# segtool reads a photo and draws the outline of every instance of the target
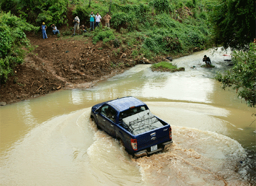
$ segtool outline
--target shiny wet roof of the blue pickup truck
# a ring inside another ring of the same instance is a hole
[[[108,102],[114,108],[116,108],[119,112],[125,111],[131,107],[138,107],[139,105],[145,105],[144,102],[137,99],[136,97],[122,97],[120,99],[115,99]]]

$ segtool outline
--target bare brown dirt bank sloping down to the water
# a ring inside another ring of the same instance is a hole
[[[30,99],[63,88],[89,88],[100,79],[122,73],[141,63],[152,63],[141,57],[132,58],[132,49],[92,44],[83,36],[60,37],[48,33],[27,36],[37,45],[25,63],[17,66],[15,75],[0,87],[0,102],[7,104]],[[155,62],[161,61],[159,57]]]

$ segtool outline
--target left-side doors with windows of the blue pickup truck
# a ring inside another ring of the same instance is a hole
[[[117,112],[109,105],[104,105],[98,115],[100,127],[109,135],[115,137],[115,121]]]

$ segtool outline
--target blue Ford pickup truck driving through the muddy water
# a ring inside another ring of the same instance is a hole
[[[170,125],[132,96],[94,105],[91,118],[98,128],[120,140],[126,151],[136,157],[163,150],[173,142]]]

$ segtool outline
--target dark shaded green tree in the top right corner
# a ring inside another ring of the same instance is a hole
[[[219,1],[212,15],[216,44],[247,50],[255,38],[255,1]]]

